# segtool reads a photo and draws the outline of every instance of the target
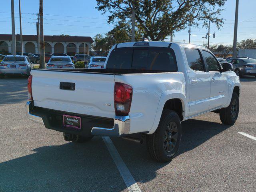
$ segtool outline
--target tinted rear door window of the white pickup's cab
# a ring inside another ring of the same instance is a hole
[[[185,48],[186,58],[188,60],[188,66],[195,71],[204,71],[203,60],[200,56],[198,49]]]

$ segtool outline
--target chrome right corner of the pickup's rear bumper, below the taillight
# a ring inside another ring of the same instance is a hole
[[[92,135],[98,136],[125,136],[130,132],[130,116],[116,116],[113,128],[93,127]]]

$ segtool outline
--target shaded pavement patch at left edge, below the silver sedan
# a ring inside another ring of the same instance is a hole
[[[0,105],[28,100],[26,76],[6,76],[0,79]]]

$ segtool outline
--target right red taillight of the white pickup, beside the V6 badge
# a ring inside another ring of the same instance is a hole
[[[126,116],[130,112],[132,104],[132,87],[124,83],[115,83],[114,105],[116,115]]]

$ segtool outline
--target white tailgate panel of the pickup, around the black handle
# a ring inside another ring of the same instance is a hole
[[[31,75],[34,106],[115,117],[113,74],[32,70]],[[74,83],[75,89],[60,89],[60,82]]]

